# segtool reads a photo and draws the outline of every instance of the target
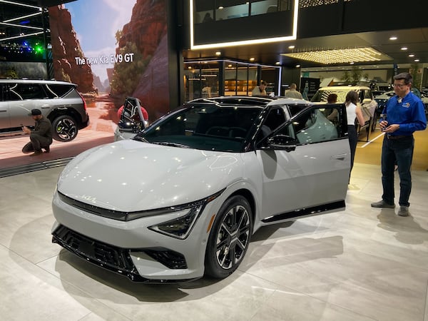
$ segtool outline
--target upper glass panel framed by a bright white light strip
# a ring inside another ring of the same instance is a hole
[[[193,0],[193,46],[255,39],[295,38],[297,0]],[[260,28],[264,25],[275,28]]]

